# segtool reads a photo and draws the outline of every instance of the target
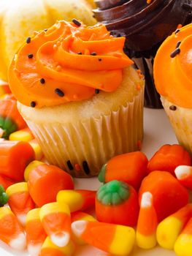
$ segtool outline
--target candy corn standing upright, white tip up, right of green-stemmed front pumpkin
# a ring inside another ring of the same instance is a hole
[[[151,249],[156,245],[157,214],[153,206],[153,195],[145,192],[142,195],[139,219],[137,222],[137,245],[142,249]]]

